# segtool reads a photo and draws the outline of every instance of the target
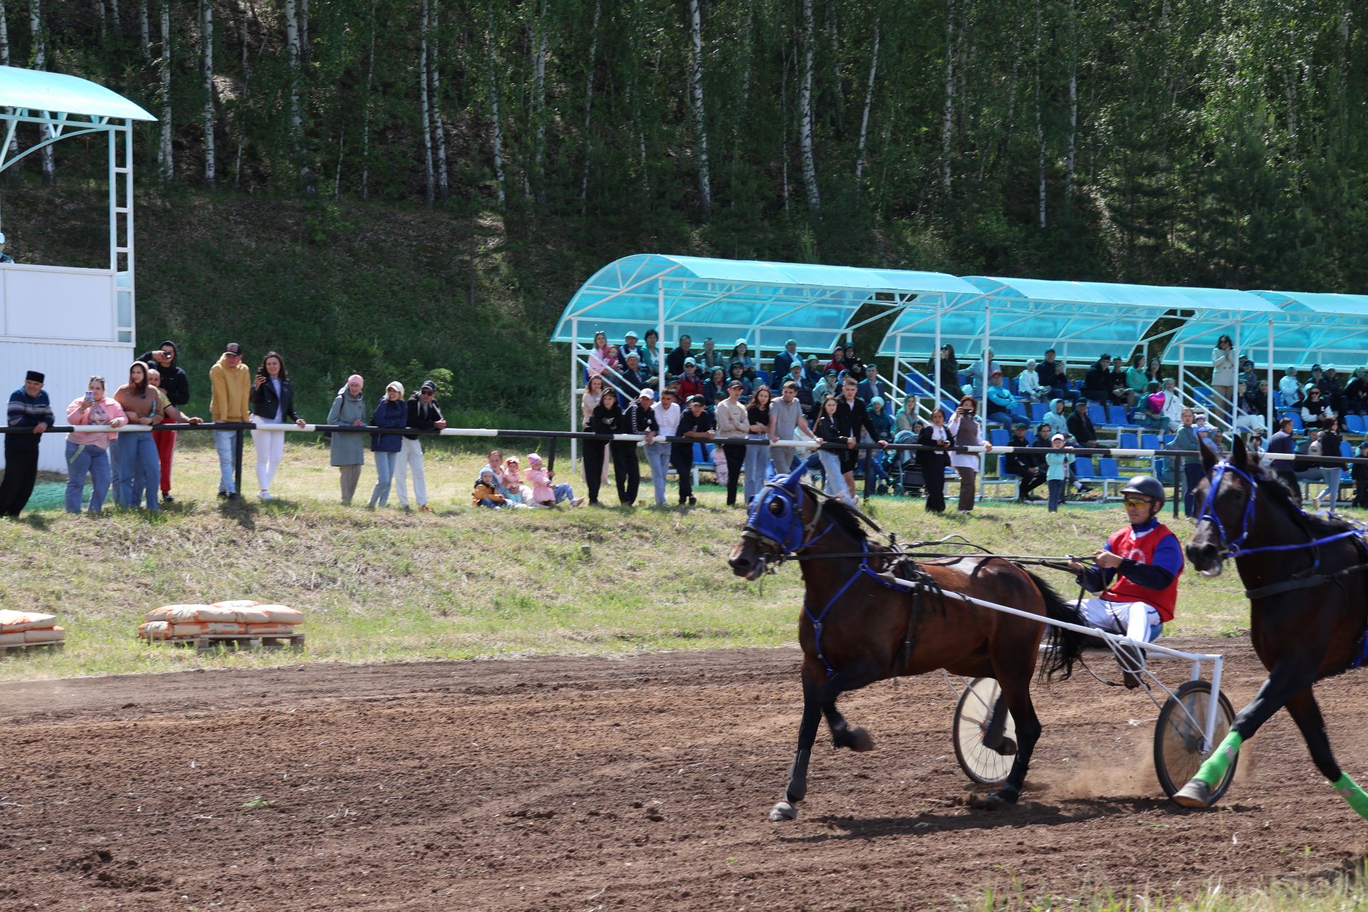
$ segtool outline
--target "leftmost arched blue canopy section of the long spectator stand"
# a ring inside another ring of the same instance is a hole
[[[642,253],[594,273],[551,340],[588,345],[602,331],[616,343],[628,330],[644,338],[663,324],[666,350],[689,334],[728,350],[741,338],[765,351],[795,339],[802,353],[826,354],[865,305],[922,309],[973,294],[974,286],[940,272]]]

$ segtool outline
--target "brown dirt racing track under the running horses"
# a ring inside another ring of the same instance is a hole
[[[1187,644],[1233,659],[1237,707],[1263,677],[1242,641]],[[1153,707],[1092,680],[1037,693],[1016,808],[963,805],[936,675],[845,697],[876,751],[819,740],[799,819],[769,823],[798,655],[4,685],[0,909],[945,908],[1014,879],[1026,897],[1238,889],[1365,855],[1285,714],[1220,809],[1185,812],[1153,779]],[[1361,673],[1321,688],[1365,781]]]

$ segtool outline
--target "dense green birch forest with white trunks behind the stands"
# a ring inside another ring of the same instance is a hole
[[[1365,27],[1347,0],[3,0],[0,63],[155,113],[149,190],[477,213],[601,261],[1363,293]]]

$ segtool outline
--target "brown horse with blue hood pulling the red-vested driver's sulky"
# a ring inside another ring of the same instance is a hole
[[[737,576],[755,580],[766,566],[792,556],[802,561],[807,589],[798,630],[803,648],[803,721],[785,800],[770,811],[770,820],[798,815],[795,805],[807,794],[807,764],[824,715],[836,747],[873,749],[869,733],[847,726],[837,711],[841,693],[937,669],[997,678],[1019,742],[1003,737],[1003,721],[989,726],[985,744],[1015,756],[1005,785],[989,796],[988,804],[1015,803],[1040,738],[1030,680],[1045,625],[947,593],[1070,623],[1079,623],[1078,614],[1044,581],[1003,558],[919,563],[899,559],[892,548],[870,540],[869,533],[880,531],[871,520],[802,484],[803,472],[799,468],[770,481],[752,500],[741,541],[729,561]],[[1051,640],[1053,649],[1044,674],[1063,671],[1068,677],[1088,637],[1051,628]]]

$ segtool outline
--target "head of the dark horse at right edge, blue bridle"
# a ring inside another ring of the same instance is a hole
[[[1259,466],[1250,462],[1245,442],[1238,436],[1228,461],[1219,462],[1204,446],[1201,462],[1207,477],[1193,491],[1193,499],[1201,509],[1187,543],[1187,559],[1202,576],[1216,577],[1226,558],[1239,551],[1249,533]]]

